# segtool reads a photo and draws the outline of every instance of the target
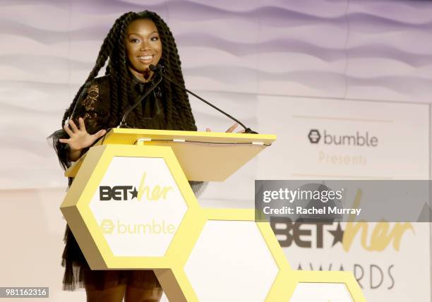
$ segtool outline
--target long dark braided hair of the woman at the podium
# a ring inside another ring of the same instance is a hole
[[[105,75],[109,75],[109,98],[111,102],[111,112],[109,114],[109,127],[117,126],[120,123],[121,116],[128,108],[128,97],[130,97],[130,76],[128,76],[128,66],[126,64],[126,33],[128,25],[134,20],[149,19],[155,23],[157,31],[162,42],[162,57],[160,64],[164,66],[164,73],[170,78],[174,78],[182,87],[177,87],[168,80],[162,80],[160,88],[162,90],[164,102],[164,118],[165,121],[160,128],[171,130],[196,131],[195,119],[191,111],[191,104],[188,100],[186,88],[184,87],[183,73],[181,72],[181,61],[177,51],[176,42],[167,23],[152,11],[142,11],[140,13],[128,12],[120,16],[112,25],[107,37],[105,37],[100,52],[97,56],[95,66],[90,71],[87,80],[80,87],[70,107],[66,109],[61,126],[64,126],[68,119],[73,118],[74,109],[83,92],[92,84],[98,73],[105,66],[107,60],[107,68]],[[145,121],[143,121],[145,124]],[[54,148],[59,155],[59,159],[64,168],[67,168],[69,163],[67,158],[61,158],[59,148],[63,147],[59,144],[58,138],[67,138],[68,135],[64,130],[54,133]],[[64,152],[66,153],[66,152]]]

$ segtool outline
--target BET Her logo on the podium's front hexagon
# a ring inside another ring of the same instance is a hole
[[[174,191],[172,186],[146,186],[146,177],[147,172],[144,172],[138,190],[135,186],[99,186],[99,198],[101,201],[157,201],[166,200],[168,193]]]

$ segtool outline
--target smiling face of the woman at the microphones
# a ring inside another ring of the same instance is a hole
[[[143,82],[149,80],[153,72],[148,66],[156,66],[162,56],[162,42],[155,23],[149,19],[131,22],[125,43],[129,70]]]

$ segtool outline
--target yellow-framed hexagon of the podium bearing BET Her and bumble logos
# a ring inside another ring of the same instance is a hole
[[[61,210],[92,269],[168,267],[164,256],[198,206],[169,147],[93,147]]]

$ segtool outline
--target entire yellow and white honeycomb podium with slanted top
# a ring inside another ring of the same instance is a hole
[[[114,128],[66,170],[61,212],[92,270],[154,270],[172,302],[287,301],[325,282],[364,301],[349,272],[292,270],[253,209],[198,204],[188,181],[224,181],[275,139]]]

